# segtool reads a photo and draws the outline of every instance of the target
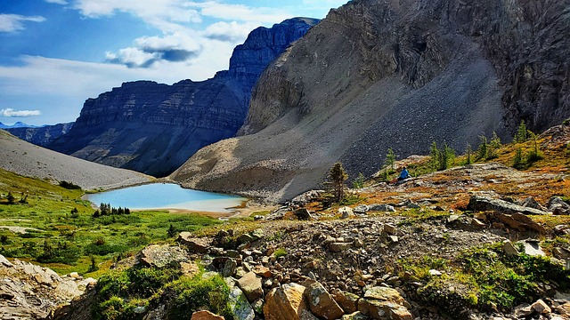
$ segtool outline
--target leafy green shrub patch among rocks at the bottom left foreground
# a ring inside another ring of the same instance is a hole
[[[144,315],[135,314],[135,308],[156,308],[165,300],[174,300],[167,310],[170,318],[190,319],[194,311],[207,308],[233,319],[224,279],[204,276],[203,269],[197,276],[183,276],[176,265],[110,271],[99,279],[97,290],[94,319],[142,318]]]

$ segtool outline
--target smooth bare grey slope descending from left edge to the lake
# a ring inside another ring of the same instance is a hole
[[[0,168],[54,182],[68,181],[91,190],[119,188],[151,181],[139,172],[94,164],[37,147],[0,130]]]

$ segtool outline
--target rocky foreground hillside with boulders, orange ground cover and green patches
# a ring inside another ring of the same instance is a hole
[[[493,162],[370,180],[345,204],[313,190],[254,221],[182,232],[116,263],[56,318],[570,319],[570,125],[538,144],[543,159],[525,171],[505,163],[533,141]]]

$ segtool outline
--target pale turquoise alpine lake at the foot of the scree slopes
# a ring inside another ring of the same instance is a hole
[[[247,198],[182,188],[174,183],[151,183],[86,195],[94,204],[110,204],[131,210],[178,209],[199,212],[230,212]]]

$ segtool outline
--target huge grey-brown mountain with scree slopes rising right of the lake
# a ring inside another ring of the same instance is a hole
[[[570,116],[570,1],[354,0],[265,70],[240,137],[171,176],[280,201],[433,141],[458,151]]]

